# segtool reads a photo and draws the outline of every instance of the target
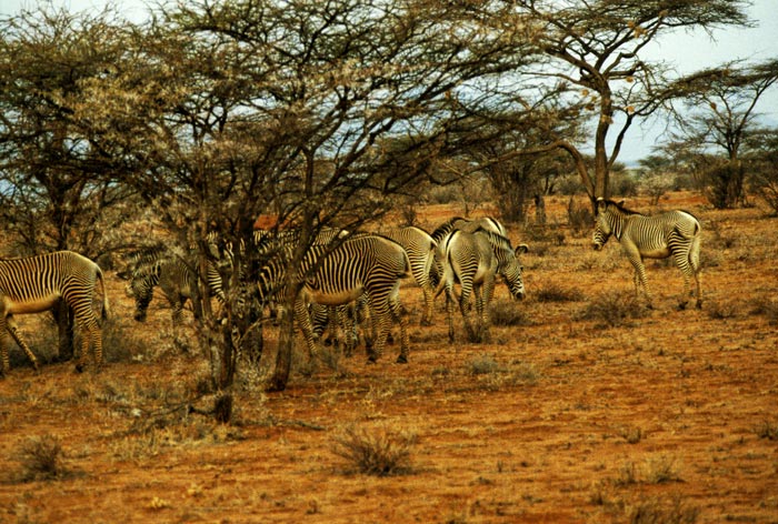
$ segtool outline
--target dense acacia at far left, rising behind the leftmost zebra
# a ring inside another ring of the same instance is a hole
[[[0,220],[20,254],[76,250],[97,258],[131,192],[101,158],[72,107],[90,79],[122,60],[126,33],[109,11],[73,16],[43,8],[0,20]],[[72,314],[62,302],[60,357],[72,355]]]

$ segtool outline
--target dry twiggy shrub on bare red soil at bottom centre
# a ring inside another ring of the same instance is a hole
[[[347,473],[389,476],[411,473],[410,450],[416,434],[379,427],[346,427],[335,437],[332,453],[347,462]]]

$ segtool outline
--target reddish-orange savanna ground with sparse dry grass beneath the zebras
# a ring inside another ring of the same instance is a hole
[[[649,311],[618,244],[594,252],[566,204],[549,199],[545,231],[509,228],[531,248],[527,298],[500,285],[488,343],[457,319],[450,345],[442,301],[418,325],[408,282],[409,364],[396,345],[376,365],[298,357],[272,394],[243,366],[230,425],[189,412],[212,401],[207,364],[159,300],[136,323],[109,271],[104,371],[36,374],[17,350],[0,381],[0,522],[778,522],[778,220],[661,200],[702,219],[705,304],[678,311],[680,273],[649,262]],[[20,321],[46,359],[51,325]],[[360,444],[395,453],[391,474],[341,456]]]

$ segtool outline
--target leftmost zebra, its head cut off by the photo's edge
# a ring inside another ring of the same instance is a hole
[[[57,251],[37,256],[0,260],[0,376],[10,371],[9,339],[27,353],[38,371],[38,359],[21,337],[14,314],[40,313],[51,310],[60,300],[73,311],[81,331],[81,357],[76,370],[87,365],[89,347],[96,370],[102,365],[102,333],[92,301],[97,282],[102,286],[101,319],[108,318],[108,293],[102,270],[98,264],[73,251]]]

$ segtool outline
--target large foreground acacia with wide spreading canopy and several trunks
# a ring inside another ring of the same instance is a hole
[[[296,224],[289,312],[317,231],[356,229],[411,192],[455,147],[457,91],[525,57],[520,39],[483,33],[427,0],[190,2],[157,13],[133,53],[130,67],[94,82],[79,115],[91,119],[107,157],[139,167],[123,183],[159,210],[180,245],[194,246],[201,275],[209,233],[237,246],[259,214]],[[235,333],[250,302],[231,298],[251,282],[241,256],[233,249],[222,274],[221,318],[202,293],[201,342],[221,390],[231,385]],[[286,387],[292,342],[288,314],[277,351],[262,354],[271,390]]]

